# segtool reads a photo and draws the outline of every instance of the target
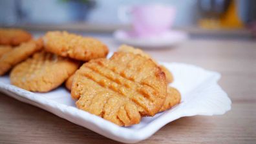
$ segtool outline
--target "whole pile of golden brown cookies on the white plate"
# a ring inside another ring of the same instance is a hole
[[[178,90],[168,87],[171,72],[140,49],[122,45],[107,59],[107,46],[92,37],[47,32],[19,44],[6,37],[0,36],[5,45],[0,46],[0,75],[11,70],[11,83],[32,92],[48,92],[66,81],[78,108],[116,125],[140,123],[143,116],[180,103]]]

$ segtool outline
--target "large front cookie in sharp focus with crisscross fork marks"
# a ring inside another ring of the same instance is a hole
[[[111,59],[93,59],[74,76],[72,98],[78,108],[120,126],[154,116],[167,95],[165,74],[151,59],[116,52]]]

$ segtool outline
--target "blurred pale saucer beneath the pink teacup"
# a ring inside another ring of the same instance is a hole
[[[136,37],[133,36],[133,32],[116,30],[113,36],[120,43],[139,48],[167,48],[185,41],[188,37],[186,32],[178,30],[169,30],[158,36],[150,37]]]

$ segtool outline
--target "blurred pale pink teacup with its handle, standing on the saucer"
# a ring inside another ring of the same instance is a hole
[[[129,21],[131,15],[134,33],[138,37],[160,35],[167,32],[175,20],[175,8],[164,5],[122,7],[118,15],[121,21]]]

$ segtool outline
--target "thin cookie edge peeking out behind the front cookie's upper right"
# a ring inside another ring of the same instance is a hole
[[[140,50],[140,48],[134,48],[133,46],[129,46],[129,45],[121,45],[118,48],[118,52],[131,52],[133,54],[140,54],[141,56],[144,56],[147,59],[151,59],[152,61],[154,61],[154,63],[156,63],[156,65],[158,65],[158,63],[155,61],[155,59],[153,59],[151,56],[149,56],[149,54],[146,54],[144,51]],[[158,66],[165,73],[167,83],[172,83],[173,75],[171,74],[171,72],[169,70],[167,70],[167,68],[165,68],[163,65],[158,65]]]

